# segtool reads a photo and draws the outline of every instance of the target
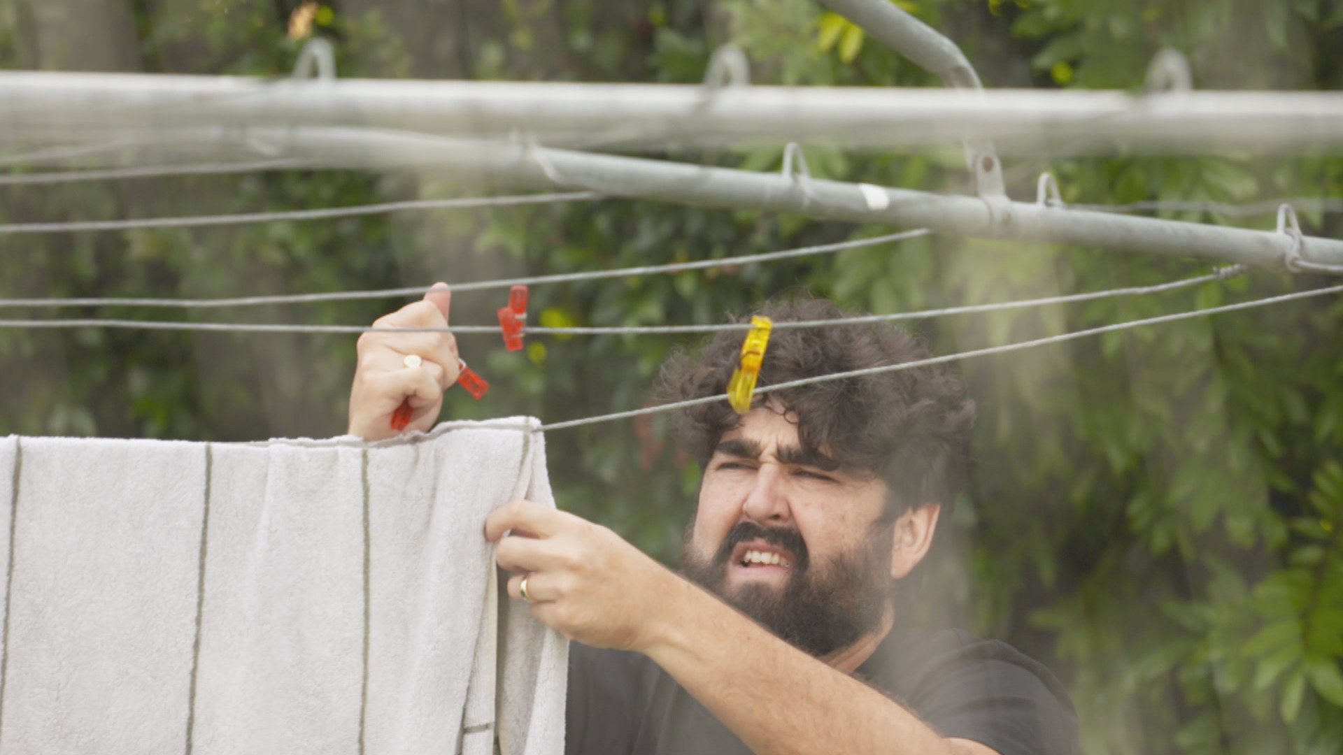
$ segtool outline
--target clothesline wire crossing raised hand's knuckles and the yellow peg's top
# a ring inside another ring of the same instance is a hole
[[[1207,275],[1158,283],[1154,286],[1129,286],[1123,289],[1108,289],[1104,292],[1088,292],[1080,294],[1065,294],[1057,297],[1005,301],[994,304],[975,304],[966,306],[947,306],[941,309],[923,309],[915,312],[896,312],[889,314],[858,314],[854,317],[839,317],[833,320],[791,320],[775,322],[776,329],[792,328],[825,328],[831,325],[861,325],[868,322],[889,322],[893,320],[919,320],[924,317],[945,317],[951,314],[975,314],[983,312],[999,312],[1005,309],[1023,309],[1029,306],[1046,306],[1052,304],[1072,304],[1080,301],[1095,301],[1100,298],[1119,296],[1140,296],[1172,292],[1199,283],[1222,281],[1245,271],[1242,265],[1221,267]],[[450,325],[446,328],[432,326],[373,326],[373,325],[287,325],[287,324],[248,324],[248,322],[177,322],[154,320],[0,320],[0,328],[140,328],[149,330],[214,330],[214,332],[242,332],[242,333],[365,333],[365,332],[402,332],[402,333],[498,333],[498,325]],[[615,326],[525,326],[524,336],[618,336],[618,335],[688,335],[688,333],[717,333],[723,330],[749,330],[749,322],[724,322],[710,325],[615,325]]]

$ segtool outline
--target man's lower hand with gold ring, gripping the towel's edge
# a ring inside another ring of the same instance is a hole
[[[510,596],[522,596],[525,576],[532,615],[595,648],[645,650],[670,594],[693,590],[610,529],[530,501],[496,509],[485,539],[498,540],[500,567],[516,572]]]

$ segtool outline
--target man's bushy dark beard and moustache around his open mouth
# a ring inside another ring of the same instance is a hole
[[[696,559],[690,531],[681,545],[681,572],[729,606],[760,622],[790,645],[815,657],[846,648],[881,622],[890,598],[890,543],[893,527],[877,527],[847,552],[814,568],[807,544],[795,529],[763,528],[743,521],[728,532],[709,563]],[[796,559],[783,590],[747,584],[727,591],[728,559],[744,540],[763,540],[791,551]]]

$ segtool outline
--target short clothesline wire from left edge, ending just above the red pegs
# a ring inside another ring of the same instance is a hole
[[[243,223],[269,223],[274,220],[324,220],[330,218],[352,218],[356,215],[379,215],[400,210],[466,210],[475,207],[512,207],[518,204],[544,204],[552,202],[577,202],[598,199],[602,195],[591,191],[524,193],[512,196],[481,196],[458,199],[408,199],[402,202],[380,202],[376,204],[356,204],[352,207],[324,207],[318,210],[281,210],[275,212],[239,212],[235,215],[195,215],[183,218],[137,218],[132,220],[70,220],[59,223],[0,223],[0,235],[51,234],[67,231],[129,231],[134,228],[196,228],[203,226],[238,226]]]

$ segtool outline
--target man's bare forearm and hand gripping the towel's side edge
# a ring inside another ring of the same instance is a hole
[[[500,540],[501,567],[528,576],[537,619],[587,645],[649,656],[757,755],[995,755],[940,736],[610,529],[514,501],[490,515],[486,537]],[[522,576],[509,579],[509,595],[521,596]]]

